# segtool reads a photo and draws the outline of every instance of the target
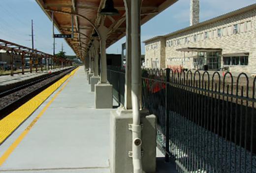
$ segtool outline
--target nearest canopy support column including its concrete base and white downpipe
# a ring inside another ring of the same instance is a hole
[[[141,1],[124,0],[127,17],[127,86],[125,99],[127,99],[127,108],[130,107],[132,110],[121,107],[117,111],[111,111],[109,157],[111,173],[156,172],[156,116],[150,115],[147,110],[140,110]],[[132,96],[130,106],[128,106],[128,95]],[[141,128],[142,124],[143,128]],[[143,148],[143,157],[141,157],[141,148]]]

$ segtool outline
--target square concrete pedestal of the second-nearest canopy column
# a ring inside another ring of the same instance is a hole
[[[95,107],[96,109],[113,108],[113,91],[110,84],[95,85]]]

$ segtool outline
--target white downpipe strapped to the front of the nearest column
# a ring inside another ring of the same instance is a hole
[[[131,0],[131,100],[132,100],[132,164],[133,173],[142,173],[141,125],[140,125],[140,5],[141,0]]]

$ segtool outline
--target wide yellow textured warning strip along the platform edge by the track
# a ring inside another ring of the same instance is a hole
[[[62,79],[46,88],[17,110],[7,115],[0,120],[0,144],[8,138],[21,123],[23,123],[32,113],[55,91],[57,90],[70,76],[73,76],[78,68],[70,74],[65,75]]]

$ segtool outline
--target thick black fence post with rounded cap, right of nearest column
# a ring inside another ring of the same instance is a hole
[[[165,69],[165,162],[169,162],[169,152],[170,152],[170,102],[169,102],[169,82],[170,82],[170,69]]]

